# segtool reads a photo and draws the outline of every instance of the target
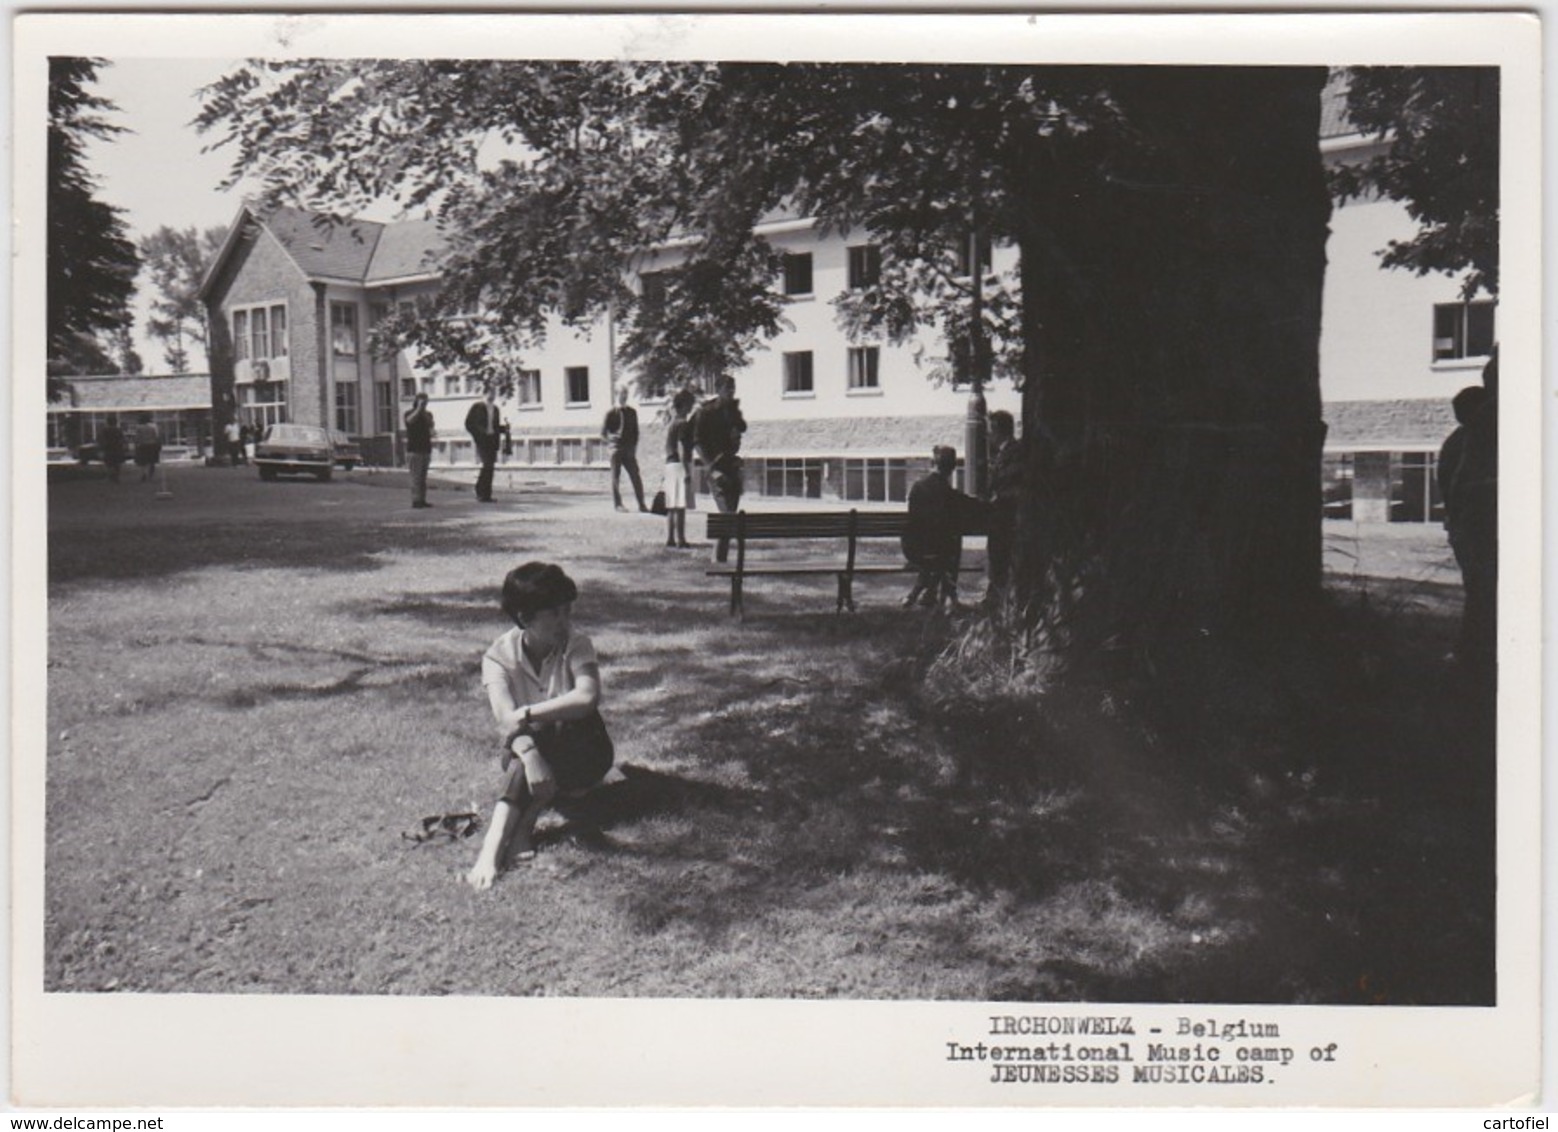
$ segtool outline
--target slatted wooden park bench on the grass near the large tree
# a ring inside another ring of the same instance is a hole
[[[913,575],[916,567],[899,556],[891,562],[862,562],[862,539],[902,539],[908,523],[907,511],[737,511],[734,514],[707,512],[707,537],[710,542],[731,540],[732,562],[714,562],[706,571],[709,578],[731,579],[731,617],[742,617],[742,590],[748,578],[834,575],[838,581],[837,612],[854,610],[854,581],[860,575]],[[971,522],[964,534],[988,534],[983,517]],[[749,561],[748,542],[801,542],[840,540],[841,553],[832,557]],[[897,548],[894,547],[894,551]],[[964,564],[961,570],[983,570],[983,565]]]

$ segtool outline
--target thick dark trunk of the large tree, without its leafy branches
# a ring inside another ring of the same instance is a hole
[[[1122,70],[1130,163],[1030,170],[1019,596],[1059,593],[1077,645],[1281,629],[1318,595],[1323,84]]]

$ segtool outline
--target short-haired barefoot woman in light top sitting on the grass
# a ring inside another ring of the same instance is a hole
[[[589,637],[572,629],[578,587],[550,562],[527,562],[503,579],[514,628],[481,657],[481,685],[503,740],[503,796],[481,839],[471,888],[492,886],[505,856],[536,855],[536,819],[558,793],[589,789],[611,769],[600,718],[600,665]]]

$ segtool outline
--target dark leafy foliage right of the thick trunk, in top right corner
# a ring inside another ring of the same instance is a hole
[[[1419,276],[1466,272],[1463,296],[1499,293],[1499,69],[1352,67],[1348,117],[1388,142],[1332,174],[1345,198],[1380,193],[1421,226],[1380,260]]]

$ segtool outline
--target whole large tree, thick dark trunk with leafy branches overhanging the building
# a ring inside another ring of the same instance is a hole
[[[1290,617],[1318,592],[1324,78],[256,61],[204,92],[199,123],[273,202],[435,213],[442,294],[396,332],[486,372],[550,318],[608,310],[654,381],[738,366],[784,325],[760,221],[880,244],[841,324],[936,329],[1020,377],[1019,598],[1086,592],[1102,645]],[[960,265],[971,232],[1016,246],[1017,271]],[[667,244],[676,266],[642,302],[626,280]]]

